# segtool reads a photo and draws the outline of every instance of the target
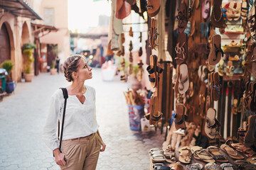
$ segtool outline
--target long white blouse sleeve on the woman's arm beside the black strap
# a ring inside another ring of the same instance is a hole
[[[46,119],[46,125],[43,128],[42,135],[43,141],[52,150],[58,148],[57,127],[59,112],[60,98],[58,97],[58,91],[56,91],[50,99],[48,118]]]

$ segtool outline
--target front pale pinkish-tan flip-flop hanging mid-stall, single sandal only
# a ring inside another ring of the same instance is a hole
[[[179,72],[178,92],[179,94],[185,94],[189,87],[188,66],[186,64],[181,64],[179,67]]]

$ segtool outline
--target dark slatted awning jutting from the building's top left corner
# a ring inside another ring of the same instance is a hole
[[[25,0],[0,0],[0,10],[9,11],[14,16],[43,20]]]

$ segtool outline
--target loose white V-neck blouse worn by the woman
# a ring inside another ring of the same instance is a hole
[[[85,85],[85,87],[85,103],[82,104],[75,95],[68,96],[63,128],[63,140],[85,137],[97,132],[98,125],[96,120],[95,89],[87,85]],[[52,150],[58,148],[58,119],[60,120],[61,132],[63,108],[63,91],[58,89],[51,98],[48,118],[46,120],[46,125],[43,128],[43,140]]]

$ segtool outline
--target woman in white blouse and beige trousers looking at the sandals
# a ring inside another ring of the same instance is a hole
[[[99,154],[105,151],[106,145],[100,137],[96,120],[95,89],[85,85],[85,80],[92,79],[92,68],[81,55],[68,57],[63,67],[65,78],[72,84],[66,87],[68,100],[62,153],[58,149],[56,135],[58,120],[62,123],[63,118],[64,98],[61,89],[55,91],[51,98],[43,140],[53,150],[55,162],[61,169],[96,169]]]

